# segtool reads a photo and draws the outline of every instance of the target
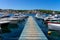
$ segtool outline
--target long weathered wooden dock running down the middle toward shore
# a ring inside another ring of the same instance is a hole
[[[32,16],[29,16],[27,23],[18,40],[48,40]]]

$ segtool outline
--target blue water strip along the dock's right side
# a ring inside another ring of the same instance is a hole
[[[36,19],[36,18],[34,18],[34,19],[35,19],[36,23],[38,24],[38,26],[43,31],[43,33],[45,34],[45,36],[48,38],[48,40],[51,40],[48,36],[48,26],[45,23],[45,21],[43,19]]]

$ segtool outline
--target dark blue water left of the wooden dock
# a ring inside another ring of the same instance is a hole
[[[1,37],[2,40],[18,40],[19,36],[21,35],[21,32],[24,28],[24,25],[26,23],[26,20],[20,21],[17,24],[9,24],[8,29],[11,32],[8,33],[2,33]]]

